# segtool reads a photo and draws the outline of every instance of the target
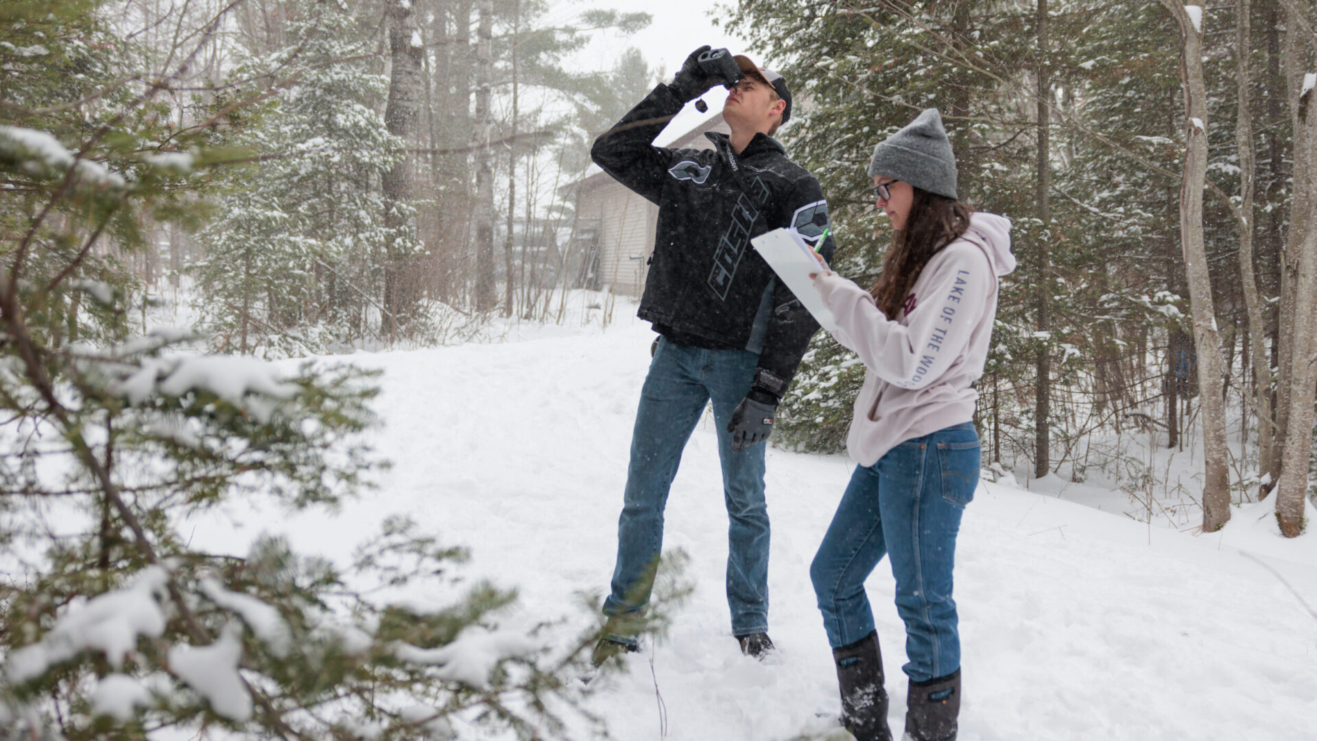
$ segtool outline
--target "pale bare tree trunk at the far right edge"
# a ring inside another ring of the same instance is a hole
[[[1303,531],[1308,498],[1308,468],[1313,443],[1314,349],[1317,349],[1317,113],[1306,59],[1313,30],[1304,9],[1285,0],[1285,78],[1293,121],[1293,194],[1289,235],[1281,265],[1281,351],[1279,392],[1284,421],[1280,480],[1276,483],[1276,519],[1287,538]],[[1309,5],[1310,7],[1310,5]],[[1308,44],[1300,42],[1306,37]],[[1287,327],[1288,324],[1288,327]]]

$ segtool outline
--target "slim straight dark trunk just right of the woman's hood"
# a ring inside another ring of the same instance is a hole
[[[1048,70],[1047,54],[1047,0],[1038,0],[1038,189],[1035,200],[1038,204],[1038,220],[1043,224],[1042,239],[1038,241],[1038,331],[1051,331],[1050,293],[1051,286],[1051,203],[1048,195],[1051,190],[1051,152],[1048,136],[1051,133],[1051,111],[1047,105],[1051,99],[1051,74]],[[1052,385],[1052,356],[1051,340],[1043,340],[1043,347],[1038,348],[1035,359],[1036,386],[1034,389],[1034,476],[1042,479],[1052,469],[1051,463],[1051,427],[1048,417],[1052,413],[1051,385]]]

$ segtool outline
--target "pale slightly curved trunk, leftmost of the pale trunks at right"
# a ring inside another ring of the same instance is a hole
[[[1201,1],[1201,0],[1200,0]],[[1184,38],[1181,84],[1185,127],[1184,174],[1180,179],[1180,244],[1193,315],[1193,341],[1198,355],[1198,403],[1202,419],[1202,531],[1220,530],[1230,519],[1230,477],[1226,448],[1223,368],[1212,277],[1202,237],[1202,187],[1208,175],[1208,98],[1202,74],[1202,5],[1162,0],[1180,25]],[[1191,15],[1196,9],[1196,18]]]

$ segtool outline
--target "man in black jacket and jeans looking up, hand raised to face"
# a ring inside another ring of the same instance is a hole
[[[653,140],[682,105],[715,84],[728,88],[731,136],[714,149],[665,149]],[[639,315],[660,338],[640,394],[618,522],[618,562],[603,612],[598,666],[635,651],[627,616],[649,601],[662,547],[664,506],[682,448],[712,402],[727,504],[727,603],[741,651],[763,658],[768,637],[768,509],[764,448],[778,401],[818,323],[756,253],[751,237],[793,229],[832,257],[818,181],[772,138],[792,115],[782,75],[726,49],[693,51],[594,142],[606,173],[658,204],[658,225]]]

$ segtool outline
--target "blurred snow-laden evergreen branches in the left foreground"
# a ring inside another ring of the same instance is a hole
[[[0,200],[0,555],[21,575],[0,589],[3,734],[565,737],[598,632],[558,630],[553,645],[552,632],[500,629],[514,595],[462,591],[462,548],[400,519],[349,571],[273,537],[241,556],[191,545],[190,518],[225,502],[333,508],[369,488],[383,464],[363,436],[375,390],[350,367],[287,369],[199,353],[190,332],[130,334],[115,256],[149,247],[144,218],[184,218],[234,153],[212,146],[213,129],[154,115],[178,69],[144,74],[97,3],[51,8],[5,5],[0,37],[0,70],[32,73],[0,98],[20,124],[0,125],[13,194]],[[353,111],[336,109],[349,123]],[[363,592],[435,579],[454,597],[432,610]]]

